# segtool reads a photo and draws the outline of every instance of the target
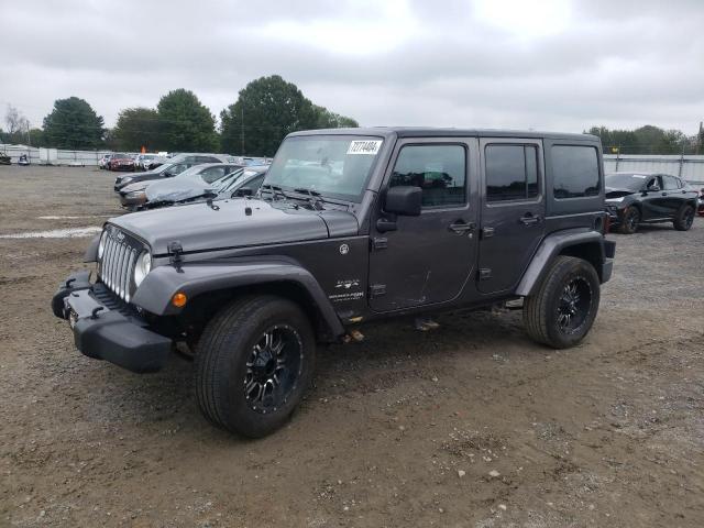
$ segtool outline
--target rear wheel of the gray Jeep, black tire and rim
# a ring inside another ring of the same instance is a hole
[[[583,258],[558,256],[535,295],[524,300],[528,336],[553,349],[578,344],[587,334],[600,302],[600,280]]]

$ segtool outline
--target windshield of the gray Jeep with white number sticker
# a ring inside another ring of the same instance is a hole
[[[351,135],[289,138],[276,153],[264,185],[359,201],[382,141]]]

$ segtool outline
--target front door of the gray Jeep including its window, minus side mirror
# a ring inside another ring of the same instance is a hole
[[[444,302],[462,292],[476,260],[475,140],[418,139],[399,142],[371,227],[370,307],[393,311]],[[472,162],[472,163],[471,163]],[[474,178],[472,178],[474,176]],[[395,218],[396,230],[378,231],[388,187],[422,189],[422,212]]]

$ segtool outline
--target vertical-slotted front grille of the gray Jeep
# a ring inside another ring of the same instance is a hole
[[[100,261],[100,280],[125,302],[130,301],[132,274],[141,248],[113,226],[106,228],[105,248]]]

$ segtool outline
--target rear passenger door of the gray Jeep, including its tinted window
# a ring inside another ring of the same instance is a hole
[[[477,289],[510,290],[543,235],[542,142],[482,139],[482,223]]]

